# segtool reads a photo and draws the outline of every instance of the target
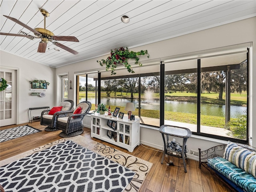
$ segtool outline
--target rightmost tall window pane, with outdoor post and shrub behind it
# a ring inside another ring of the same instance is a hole
[[[247,139],[247,54],[200,60],[200,132]]]

